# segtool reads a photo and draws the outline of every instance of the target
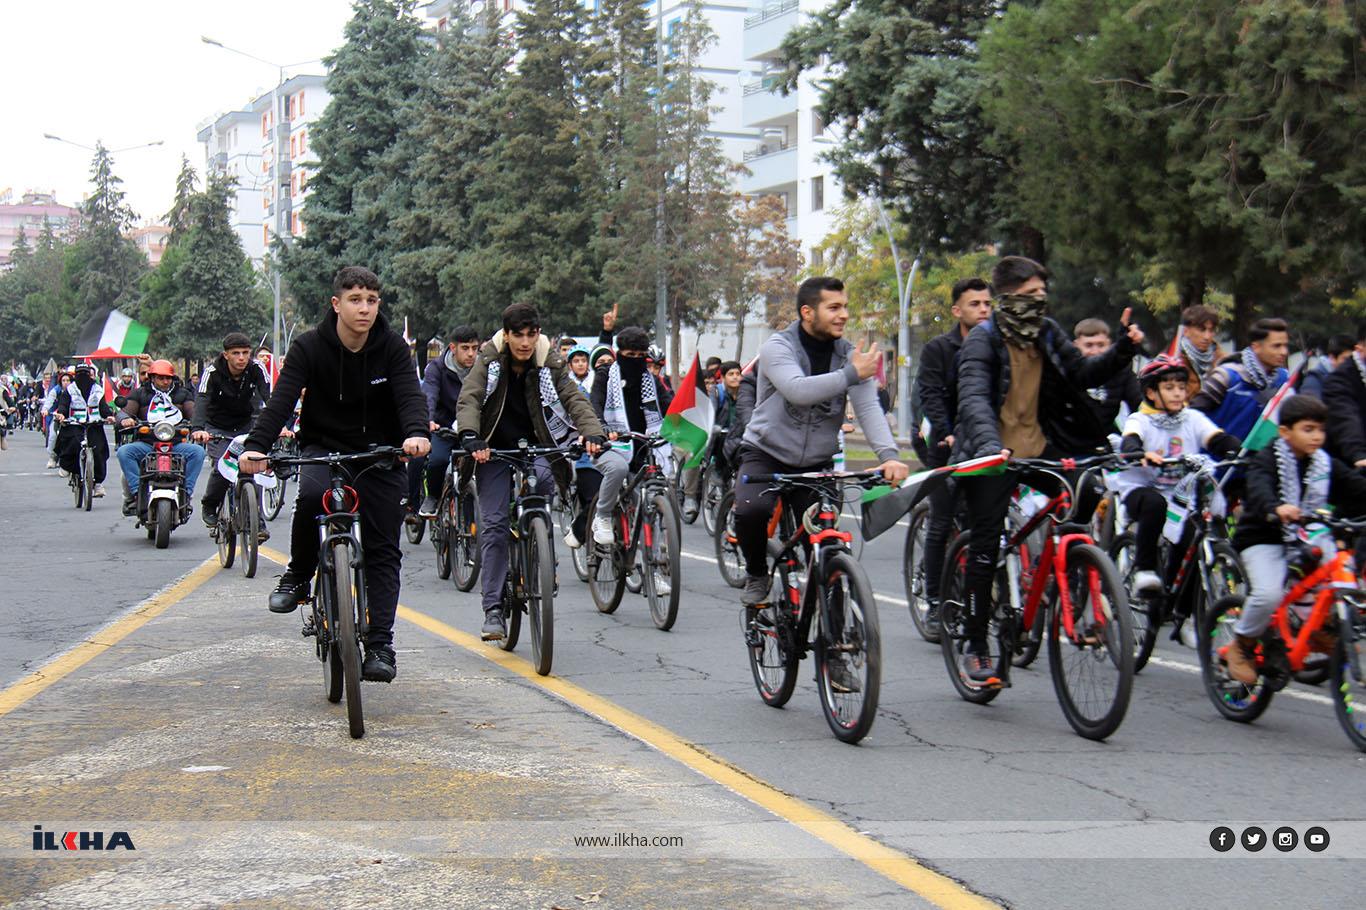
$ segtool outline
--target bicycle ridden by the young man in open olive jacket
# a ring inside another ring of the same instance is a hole
[[[527,445],[490,448],[512,467],[512,501],[508,508],[508,575],[503,582],[503,616],[508,631],[499,642],[503,650],[516,648],[522,631],[522,613],[531,626],[531,663],[542,676],[550,672],[555,657],[555,541],[550,516],[552,491],[541,489],[533,463],[537,458],[576,459],[579,452],[556,447]],[[552,481],[553,482],[553,481]]]

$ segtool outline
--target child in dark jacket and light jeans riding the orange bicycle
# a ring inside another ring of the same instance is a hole
[[[1299,545],[1294,526],[1328,506],[1344,515],[1366,514],[1366,477],[1322,451],[1326,418],[1328,407],[1313,395],[1285,399],[1280,437],[1247,466],[1243,515],[1233,532],[1247,600],[1225,657],[1228,675],[1244,686],[1257,682],[1257,639],[1285,594],[1287,545]]]

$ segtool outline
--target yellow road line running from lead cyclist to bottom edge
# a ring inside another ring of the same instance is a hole
[[[288,557],[275,549],[262,547],[261,555],[284,564]],[[749,772],[736,768],[724,758],[713,754],[705,747],[683,739],[667,727],[661,727],[653,720],[647,720],[632,711],[622,708],[616,702],[596,695],[582,686],[576,686],[556,676],[541,676],[530,661],[523,660],[510,652],[493,645],[486,645],[478,637],[460,631],[434,616],[418,612],[410,607],[399,604],[399,616],[423,629],[438,638],[444,638],[460,648],[503,667],[504,670],[522,676],[557,698],[585,711],[623,732],[635,736],[641,742],[657,749],[665,756],[679,761],[693,771],[710,777],[716,783],[732,790],[777,817],[802,828],[811,836],[835,847],[854,859],[862,862],[874,872],[891,879],[903,888],[914,891],[937,907],[944,910],[979,910],[996,907],[999,905],[975,895],[948,876],[943,876],[929,869],[911,857],[878,843],[867,835],[859,833],[848,823],[836,818],[828,812],[810,806],[795,797],[790,797],[773,784],[754,777]]]

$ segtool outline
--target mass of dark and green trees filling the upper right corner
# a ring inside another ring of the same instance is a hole
[[[1363,49],[1356,0],[836,0],[783,46],[788,87],[831,64],[840,179],[932,262],[993,245],[1079,312],[1309,340],[1366,314]]]

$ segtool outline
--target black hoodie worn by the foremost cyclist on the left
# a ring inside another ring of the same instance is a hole
[[[348,351],[337,337],[337,314],[294,340],[270,400],[257,415],[246,450],[269,452],[294,404],[303,396],[299,443],[329,452],[363,452],[429,437],[426,399],[418,387],[408,344],[377,316],[365,347]]]

